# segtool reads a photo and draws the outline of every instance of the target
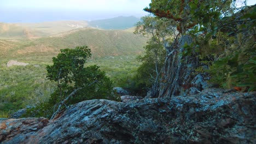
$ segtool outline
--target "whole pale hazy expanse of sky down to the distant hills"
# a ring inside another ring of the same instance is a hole
[[[242,1],[242,0],[237,0]],[[96,20],[147,15],[151,0],[0,0],[0,22]],[[248,5],[255,0],[248,0]],[[239,6],[238,6],[239,7]]]

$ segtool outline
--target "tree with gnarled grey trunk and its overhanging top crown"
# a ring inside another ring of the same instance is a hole
[[[149,8],[144,9],[156,17],[175,21],[179,32],[173,43],[165,47],[168,54],[162,69],[158,97],[189,93],[194,78],[193,73],[200,66],[199,52],[194,45],[197,35],[211,38],[217,30],[214,26],[220,17],[229,11],[231,2],[231,0],[152,0]],[[191,33],[193,29],[199,31]],[[200,87],[194,88],[200,91]]]

